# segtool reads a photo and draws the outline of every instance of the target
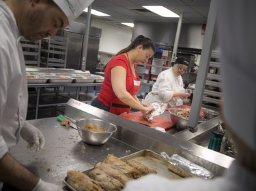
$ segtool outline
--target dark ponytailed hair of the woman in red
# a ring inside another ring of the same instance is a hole
[[[143,50],[148,50],[151,48],[154,52],[156,51],[156,48],[155,48],[155,45],[154,45],[152,39],[144,37],[143,35],[139,35],[136,39],[134,39],[132,41],[132,43],[128,47],[117,52],[117,54],[115,54],[115,56],[117,56],[119,54],[123,54],[125,52],[128,52],[128,51],[136,48],[139,45],[142,45]]]

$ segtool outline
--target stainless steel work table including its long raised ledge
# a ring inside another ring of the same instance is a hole
[[[68,170],[90,169],[97,162],[103,161],[107,154],[122,157],[145,149],[157,153],[167,152],[169,155],[180,154],[213,171],[216,176],[223,175],[233,161],[229,156],[182,141],[168,133],[161,133],[85,103],[78,104],[83,106],[83,111],[75,114],[71,109],[71,113],[68,114],[76,116],[74,120],[102,118],[117,125],[117,131],[104,145],[87,145],[81,141],[81,137],[74,128],[67,129],[60,126],[56,118],[44,118],[30,121],[44,134],[46,139],[44,149],[40,152],[31,151],[27,149],[27,143],[21,139],[18,145],[11,148],[12,156],[35,175],[60,186],[64,186],[62,179],[66,177]]]

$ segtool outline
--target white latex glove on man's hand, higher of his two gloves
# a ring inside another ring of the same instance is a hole
[[[38,128],[29,122],[25,122],[20,131],[20,136],[29,143],[27,147],[30,150],[35,149],[36,151],[39,151],[44,147],[44,135],[42,135],[42,132]]]

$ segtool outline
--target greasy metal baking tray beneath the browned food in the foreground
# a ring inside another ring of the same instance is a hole
[[[167,177],[168,179],[183,179],[183,177],[180,177],[179,175],[173,173],[168,168],[168,162],[160,156],[160,154],[157,154],[156,152],[153,152],[152,150],[141,150],[139,152],[136,152],[134,154],[130,154],[128,156],[124,156],[120,159],[125,160],[136,160],[137,162],[141,162],[141,164],[144,164],[146,167],[150,169],[154,169],[157,172],[157,175]],[[83,171],[86,175],[89,174],[89,172],[92,169],[88,169],[87,171]],[[76,191],[68,182],[66,181],[68,177],[65,177],[63,179],[63,183],[66,184],[68,188],[72,191]]]

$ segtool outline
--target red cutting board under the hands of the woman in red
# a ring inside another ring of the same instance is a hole
[[[159,126],[162,128],[171,128],[174,126],[173,122],[166,118],[161,118],[159,116],[155,116],[152,121],[147,121],[145,118],[143,118],[143,115],[141,114],[141,111],[137,111],[130,114],[122,114],[120,115],[123,118],[126,118],[128,120],[132,120],[134,122],[139,122],[141,124],[145,124],[147,126]]]

